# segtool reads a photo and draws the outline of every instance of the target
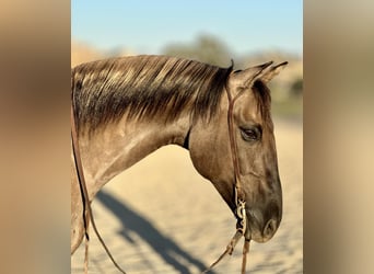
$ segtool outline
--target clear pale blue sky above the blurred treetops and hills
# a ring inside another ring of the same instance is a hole
[[[303,54],[303,1],[72,0],[71,36],[98,49],[161,54],[168,44],[219,38],[234,54]]]

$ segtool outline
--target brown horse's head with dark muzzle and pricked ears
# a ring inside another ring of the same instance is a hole
[[[209,123],[202,118],[195,122],[189,134],[195,168],[213,183],[234,214],[235,196],[241,196],[245,202],[246,237],[257,242],[271,239],[282,218],[282,190],[267,83],[285,65],[267,62],[232,71],[217,115]]]

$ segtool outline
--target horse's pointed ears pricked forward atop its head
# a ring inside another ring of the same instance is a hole
[[[268,61],[259,66],[250,67],[245,70],[234,71],[232,75],[233,80],[244,87],[250,87],[256,80],[261,80],[265,83],[269,82],[277,76],[288,64],[287,61],[277,66],[271,66],[273,61]]]

